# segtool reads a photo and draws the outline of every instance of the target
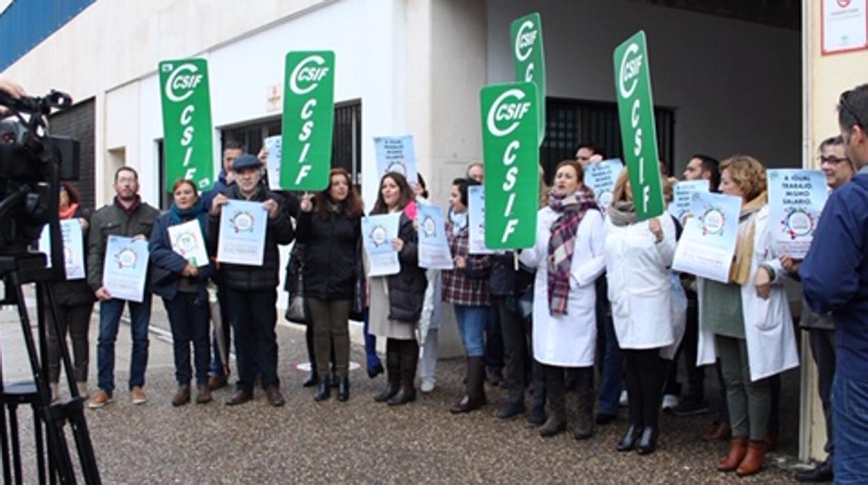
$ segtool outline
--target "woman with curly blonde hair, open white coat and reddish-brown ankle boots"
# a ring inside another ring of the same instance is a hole
[[[766,168],[753,157],[735,155],[720,163],[720,192],[740,197],[739,239],[727,284],[700,279],[700,364],[720,369],[727,385],[733,427],[720,471],[753,475],[766,455],[772,410],[769,377],[799,365],[790,306],[774,249],[766,203]]]

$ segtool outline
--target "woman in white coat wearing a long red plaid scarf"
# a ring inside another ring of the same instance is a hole
[[[534,281],[534,358],[545,369],[549,418],[541,436],[567,428],[563,370],[580,370],[576,439],[593,434],[595,279],[603,271],[602,215],[594,194],[582,183],[584,171],[573,160],[557,166],[549,206],[539,211],[536,245],[521,261],[536,270]]]

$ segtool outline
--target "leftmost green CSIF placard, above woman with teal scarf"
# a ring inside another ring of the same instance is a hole
[[[193,180],[200,191],[214,185],[214,129],[205,59],[162,61],[160,97],[166,191],[178,179]]]

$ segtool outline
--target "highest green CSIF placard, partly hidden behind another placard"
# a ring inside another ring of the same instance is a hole
[[[539,144],[545,138],[545,54],[542,51],[540,14],[517,18],[510,24],[512,55],[517,82],[536,85],[536,135]]]

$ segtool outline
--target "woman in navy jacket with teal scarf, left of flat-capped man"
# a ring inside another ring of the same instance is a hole
[[[190,402],[190,381],[193,370],[190,367],[190,344],[196,378],[196,403],[211,401],[208,388],[208,365],[211,361],[211,345],[208,342],[207,279],[214,273],[210,261],[187,260],[172,249],[168,228],[195,220],[201,229],[204,247],[207,238],[205,230],[207,208],[199,198],[196,185],[192,180],[178,180],[172,187],[174,203],[168,213],[162,214],[154,222],[151,239],[148,242],[151,264],[161,276],[151,282],[152,291],[163,298],[166,305],[168,322],[172,327],[174,349],[174,377],[178,390],[172,398],[173,406]],[[162,270],[162,271],[160,271]]]

